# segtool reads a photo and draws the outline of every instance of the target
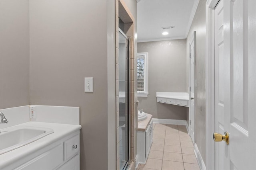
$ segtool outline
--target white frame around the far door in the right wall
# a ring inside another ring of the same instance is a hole
[[[196,86],[195,86],[195,84],[196,84],[196,31],[194,31],[194,33],[191,35],[191,37],[188,39],[188,41],[189,41],[189,53],[190,53],[190,51],[191,51],[191,49],[190,49],[190,46],[191,46],[191,44],[192,44],[192,42],[194,41],[194,137],[193,137],[193,139],[194,139],[194,144],[196,143],[196,139],[195,139],[195,136],[196,136],[196,128],[195,128],[195,124],[196,124],[196,119],[195,119],[195,113],[196,113]],[[190,58],[190,56],[189,56],[189,74],[188,74],[188,86],[189,86],[189,88],[191,88],[191,58]],[[190,107],[190,104],[191,104],[191,90],[189,89],[188,90],[189,91],[189,110],[188,110],[188,134],[190,135],[190,137],[191,137],[191,135],[192,135],[192,133],[191,133],[191,131],[190,131],[190,129],[191,129],[191,125],[190,125],[190,120],[191,120],[191,107]]]

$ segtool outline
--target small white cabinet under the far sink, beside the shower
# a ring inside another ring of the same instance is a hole
[[[138,162],[145,164],[148,159],[151,145],[153,143],[153,120],[146,127],[145,131],[138,131],[137,134]]]

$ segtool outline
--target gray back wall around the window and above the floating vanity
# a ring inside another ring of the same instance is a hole
[[[138,97],[138,109],[158,119],[186,120],[186,107],[156,102],[156,92],[186,92],[186,39],[138,43],[148,52],[148,97]]]

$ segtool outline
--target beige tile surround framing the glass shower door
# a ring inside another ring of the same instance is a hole
[[[118,21],[119,21],[119,3],[122,6],[125,6],[125,2],[123,0],[116,0],[116,168],[119,170],[119,56],[118,56]],[[125,8],[128,9],[128,8]],[[127,14],[130,18],[133,18],[132,14],[127,11]],[[136,107],[136,101],[137,101],[137,91],[136,91],[136,74],[137,70],[137,60],[136,56],[134,55],[134,20],[132,23],[125,23],[124,24],[124,33],[129,38],[129,70],[130,70],[130,161],[134,161],[134,154],[137,153],[137,107]],[[133,168],[134,169],[134,168]]]

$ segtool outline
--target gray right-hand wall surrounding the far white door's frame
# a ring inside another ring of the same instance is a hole
[[[206,42],[206,19],[205,19],[205,0],[200,0],[192,25],[190,27],[188,37],[196,31],[196,113],[195,113],[195,132],[196,145],[205,162],[205,42]],[[189,40],[187,41],[187,56],[189,55]],[[188,66],[189,61],[187,61]],[[188,71],[187,71],[188,77]]]

